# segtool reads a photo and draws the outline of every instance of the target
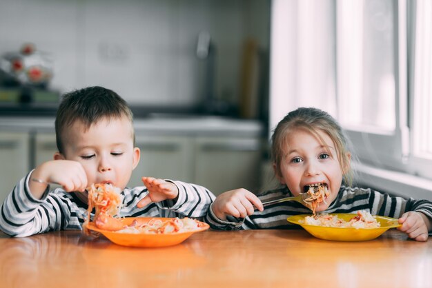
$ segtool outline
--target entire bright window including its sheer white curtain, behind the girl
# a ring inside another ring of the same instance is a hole
[[[315,106],[340,121],[362,163],[432,179],[431,6],[273,0],[270,128]]]

